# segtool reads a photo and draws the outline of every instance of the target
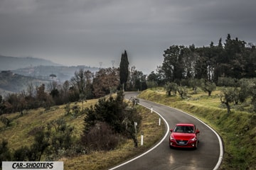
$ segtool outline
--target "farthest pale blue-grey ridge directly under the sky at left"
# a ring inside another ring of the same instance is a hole
[[[45,66],[61,66],[51,62],[50,60],[44,60],[33,57],[9,57],[0,55],[0,71],[4,70],[14,70],[26,67],[36,67],[40,65]]]

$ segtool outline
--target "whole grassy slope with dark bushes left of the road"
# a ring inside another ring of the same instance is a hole
[[[112,123],[100,118],[100,111],[118,111],[114,105],[122,103],[123,99],[122,95],[117,95],[88,100],[83,106],[84,111],[82,103],[70,103],[48,110],[38,108],[23,111],[23,115],[1,115],[1,119],[9,120],[9,124],[6,125],[3,121],[0,124],[0,159],[63,161],[65,169],[78,170],[107,169],[124,162],[158,142],[166,129],[164,125],[158,125],[158,115],[127,101],[122,104],[125,107],[120,109],[128,109],[129,115],[137,116],[133,117],[134,120],[127,117],[127,122],[120,125],[124,128],[122,132],[117,132],[120,130],[117,128],[119,126],[114,123],[114,127],[118,129],[114,131]],[[99,112],[95,113],[92,108],[97,108]],[[130,114],[131,111],[134,114]],[[95,114],[97,120],[91,116]],[[114,120],[111,116],[106,118]],[[137,133],[134,132],[134,121],[138,123]],[[144,145],[141,146],[142,132]]]

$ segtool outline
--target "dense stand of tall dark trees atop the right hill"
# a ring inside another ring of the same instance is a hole
[[[172,45],[164,51],[161,70],[166,81],[207,79],[217,84],[220,77],[235,79],[256,77],[255,45],[228,34],[223,44],[210,42],[208,47]]]

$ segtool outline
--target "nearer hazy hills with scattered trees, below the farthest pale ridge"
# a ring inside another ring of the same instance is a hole
[[[1,71],[0,95],[5,96],[9,93],[26,91],[28,84],[41,86],[41,84],[49,84],[50,81],[58,81],[62,84],[66,80],[70,81],[71,77],[79,69],[90,70],[90,72],[97,72],[99,70],[97,67],[87,66],[37,66],[12,71]]]

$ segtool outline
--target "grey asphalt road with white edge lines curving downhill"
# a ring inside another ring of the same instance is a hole
[[[136,96],[136,92],[125,94],[125,98]],[[166,135],[163,140],[148,152],[113,167],[117,170],[130,169],[218,169],[223,157],[220,137],[208,125],[187,113],[151,101],[139,99],[139,104],[153,109],[166,123]],[[163,122],[163,121],[162,121]],[[170,149],[169,128],[176,123],[195,123],[200,130],[198,149]]]

